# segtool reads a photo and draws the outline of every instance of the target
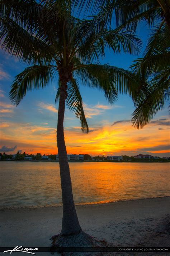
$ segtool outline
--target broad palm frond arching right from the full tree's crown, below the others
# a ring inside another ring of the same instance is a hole
[[[105,97],[113,104],[119,93],[132,95],[136,88],[136,76],[122,68],[109,65],[89,64],[77,67],[75,75],[82,84],[104,91]]]

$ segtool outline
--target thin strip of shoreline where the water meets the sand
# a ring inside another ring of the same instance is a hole
[[[117,199],[116,201],[99,201],[99,202],[87,202],[87,203],[75,203],[75,206],[86,206],[86,205],[106,205],[112,204],[117,202],[127,202],[127,201],[138,201],[138,200],[147,200],[147,199],[156,199],[156,198],[170,198],[169,196],[160,196],[160,197],[142,197],[138,199]],[[0,206],[1,210],[22,210],[22,209],[37,209],[37,208],[55,208],[55,207],[62,207],[62,203],[58,204],[51,204],[51,205],[21,205],[21,206]]]

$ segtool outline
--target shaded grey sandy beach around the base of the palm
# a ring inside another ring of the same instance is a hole
[[[169,201],[170,197],[158,197],[78,205],[76,210],[82,229],[93,237],[105,240],[109,246],[168,247]],[[0,247],[50,247],[49,238],[61,230],[62,207],[1,208],[0,216]],[[17,252],[16,255],[25,253]],[[50,254],[39,252],[37,255]],[[124,254],[112,252],[101,255]],[[139,252],[126,255],[147,254]],[[169,253],[151,252],[148,255]]]

